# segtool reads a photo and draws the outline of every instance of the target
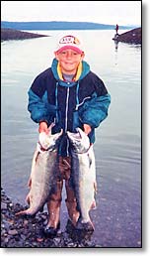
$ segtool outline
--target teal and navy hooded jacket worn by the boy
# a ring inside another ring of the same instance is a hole
[[[90,70],[89,64],[82,62],[82,72],[76,81],[62,80],[58,74],[58,62],[53,60],[51,67],[39,73],[30,87],[28,110],[31,118],[48,126],[55,123],[52,133],[63,129],[59,144],[59,155],[68,156],[70,144],[67,131],[83,129],[83,124],[92,128],[90,142],[95,142],[95,128],[108,116],[111,103],[103,80]]]

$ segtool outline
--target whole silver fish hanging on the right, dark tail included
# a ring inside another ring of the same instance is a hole
[[[76,229],[94,231],[90,210],[96,207],[97,192],[96,164],[93,145],[89,137],[79,127],[76,132],[67,132],[71,144],[71,179],[80,216]]]

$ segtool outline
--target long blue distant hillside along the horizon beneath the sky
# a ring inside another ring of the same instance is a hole
[[[16,30],[114,30],[115,25],[106,25],[91,22],[1,22],[1,28]],[[119,29],[132,29],[133,27],[119,26]]]

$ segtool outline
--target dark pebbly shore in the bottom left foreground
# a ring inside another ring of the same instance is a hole
[[[38,212],[35,217],[19,217],[15,213],[25,209],[14,203],[1,189],[1,248],[76,248],[102,247],[91,241],[91,234],[75,232],[69,225],[59,230],[55,237],[46,238],[42,228],[46,225],[47,212]]]

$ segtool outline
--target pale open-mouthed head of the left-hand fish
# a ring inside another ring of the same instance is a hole
[[[48,134],[46,134],[45,132],[40,132],[38,141],[42,149],[50,151],[54,150],[56,147],[56,143],[62,135],[62,133],[62,129],[59,133],[56,134],[51,134],[51,131],[49,131]]]

